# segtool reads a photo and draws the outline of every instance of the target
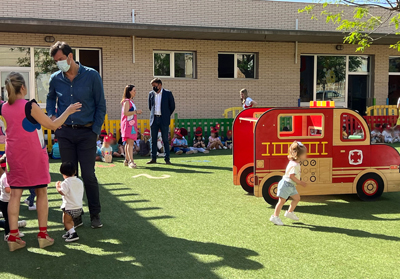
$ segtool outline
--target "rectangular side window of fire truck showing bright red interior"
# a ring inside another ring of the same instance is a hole
[[[323,114],[279,115],[279,138],[305,139],[324,136]]]

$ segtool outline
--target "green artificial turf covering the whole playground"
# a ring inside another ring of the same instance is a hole
[[[35,212],[21,205],[27,248],[0,242],[0,278],[396,278],[400,193],[378,201],[356,195],[303,197],[300,222],[269,222],[273,208],[232,184],[232,155],[173,156],[173,166],[97,167],[102,229],[62,239],[59,161],[51,162],[49,232],[38,249]],[[159,160],[162,163],[162,160]],[[104,163],[98,165],[107,166]],[[149,179],[170,176],[166,179]],[[399,181],[400,183],[400,181]],[[85,204],[85,211],[87,207]]]

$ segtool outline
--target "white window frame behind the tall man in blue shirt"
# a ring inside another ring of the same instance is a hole
[[[17,69],[19,68],[20,71],[22,71],[23,69],[30,69],[29,70],[29,100],[32,100],[35,98],[35,89],[36,89],[36,82],[35,82],[35,53],[34,53],[34,49],[35,48],[49,48],[49,46],[21,46],[21,45],[0,45],[0,47],[13,47],[13,48],[17,48],[17,47],[24,47],[24,48],[29,48],[30,49],[30,62],[31,62],[31,66],[30,67],[4,67],[4,68],[10,68],[10,69]],[[75,48],[75,47],[71,47],[73,50],[75,50],[75,61],[79,62],[79,50],[98,50],[99,51],[99,74],[100,76],[102,76],[102,49],[101,48]],[[39,106],[41,108],[46,108],[46,103],[39,103]]]

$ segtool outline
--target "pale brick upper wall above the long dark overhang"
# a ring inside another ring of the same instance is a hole
[[[306,3],[266,0],[20,0],[1,3],[0,17],[45,18],[82,21],[132,22],[161,25],[237,27],[258,29],[334,31],[332,24],[299,14]],[[315,14],[321,11],[317,5]],[[353,9],[332,5],[331,11]]]

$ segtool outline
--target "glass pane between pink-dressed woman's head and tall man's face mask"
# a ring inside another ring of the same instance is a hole
[[[46,103],[49,92],[49,79],[58,71],[57,65],[50,56],[49,48],[35,48],[35,99],[38,103]]]

